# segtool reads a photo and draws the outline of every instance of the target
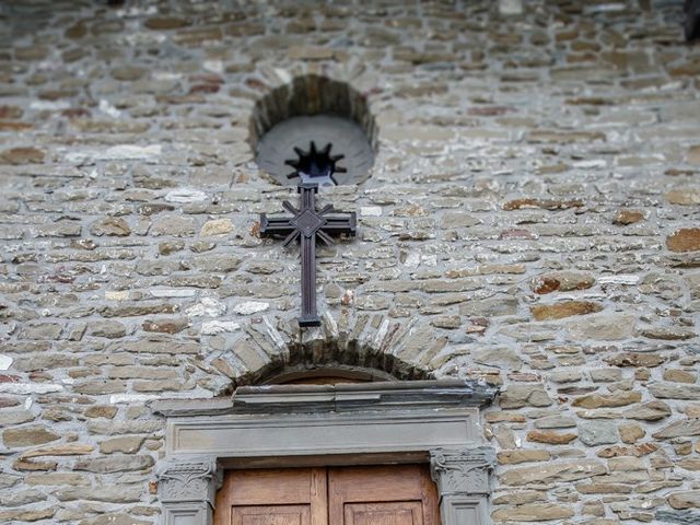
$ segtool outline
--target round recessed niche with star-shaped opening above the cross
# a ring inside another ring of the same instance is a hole
[[[374,119],[343,82],[294,79],[258,102],[252,125],[256,162],[280,184],[359,184],[370,175]]]

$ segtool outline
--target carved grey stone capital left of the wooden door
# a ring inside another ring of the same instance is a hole
[[[213,508],[223,480],[214,456],[172,458],[159,466],[156,475],[159,498],[164,505],[196,502]]]

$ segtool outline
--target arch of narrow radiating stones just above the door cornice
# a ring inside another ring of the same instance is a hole
[[[417,329],[410,319],[349,311],[327,312],[322,326],[303,330],[289,314],[268,315],[242,325],[225,350],[212,355],[211,365],[231,378],[232,388],[262,383],[292,368],[358,368],[397,380],[430,378],[425,352],[415,352],[407,342]]]

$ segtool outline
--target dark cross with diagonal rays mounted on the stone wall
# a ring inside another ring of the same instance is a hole
[[[320,318],[316,311],[316,238],[320,238],[330,246],[334,244],[330,235],[342,233],[354,235],[357,230],[354,213],[345,217],[328,215],[334,211],[331,205],[316,211],[317,191],[317,184],[300,184],[301,209],[298,210],[287,200],[282,202],[282,207],[292,213],[291,218],[268,218],[265,213],[260,214],[260,235],[262,237],[285,235],[283,246],[288,246],[301,237],[302,315],[299,317],[299,326],[320,325]]]

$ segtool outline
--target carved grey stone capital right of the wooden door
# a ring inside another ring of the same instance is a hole
[[[430,451],[430,472],[441,498],[488,494],[489,474],[495,466],[495,454],[488,446]]]

